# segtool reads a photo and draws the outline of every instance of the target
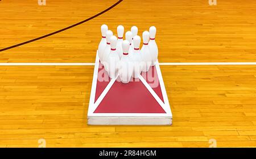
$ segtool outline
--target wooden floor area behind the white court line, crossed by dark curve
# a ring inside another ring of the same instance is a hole
[[[65,28],[105,10],[111,1],[1,1],[0,48]],[[256,2],[124,0],[112,10],[75,28],[1,52],[0,62],[94,62],[100,26],[116,35],[137,25],[139,35],[157,28],[159,62],[255,62]]]

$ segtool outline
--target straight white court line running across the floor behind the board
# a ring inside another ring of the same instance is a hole
[[[0,63],[0,66],[94,66],[95,63]],[[256,65],[256,62],[166,62],[159,63],[165,66],[182,65]]]

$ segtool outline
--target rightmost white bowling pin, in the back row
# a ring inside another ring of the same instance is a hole
[[[158,59],[158,46],[155,43],[155,33],[156,28],[154,26],[150,27],[150,41],[148,42],[148,47],[150,48],[152,58],[151,66],[154,66],[156,60]]]

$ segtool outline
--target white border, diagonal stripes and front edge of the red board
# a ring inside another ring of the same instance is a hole
[[[88,124],[172,124],[172,113],[170,109],[170,104],[168,101],[167,93],[163,84],[162,74],[160,74],[160,67],[158,61],[156,62],[156,71],[159,78],[159,83],[161,87],[161,91],[163,94],[164,103],[160,98],[156,95],[152,88],[145,83],[143,83],[148,91],[152,94],[153,97],[156,98],[156,101],[159,102],[160,106],[166,111],[166,113],[94,113],[97,106],[100,104],[102,99],[105,97],[106,93],[108,93],[109,89],[113,85],[114,81],[117,79],[112,79],[107,87],[102,92],[98,100],[94,103],[96,87],[97,87],[97,77],[98,77],[98,66],[99,66],[99,58],[98,51],[96,54],[96,61],[94,66],[93,73],[93,81],[92,81],[92,89],[90,92],[90,101],[88,108]],[[140,76],[141,80],[144,80],[142,76]],[[148,88],[150,87],[150,88]],[[157,96],[157,97],[156,97]],[[160,100],[160,101],[159,101]]]

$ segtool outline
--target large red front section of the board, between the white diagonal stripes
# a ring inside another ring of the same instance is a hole
[[[142,81],[115,81],[94,113],[166,113]]]

